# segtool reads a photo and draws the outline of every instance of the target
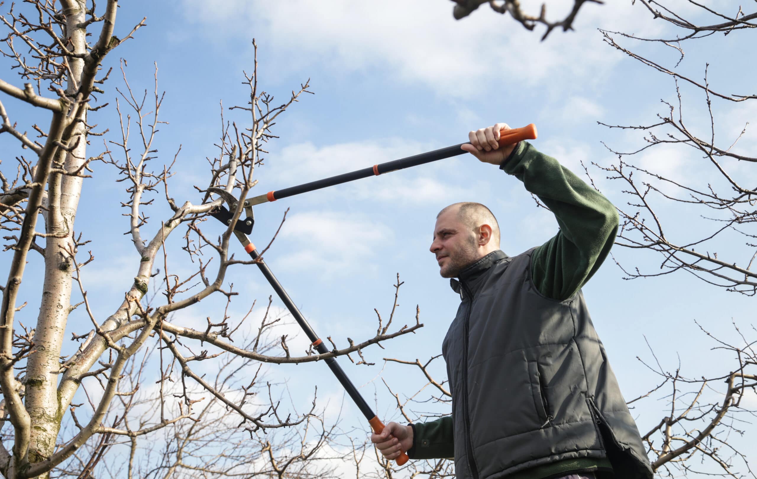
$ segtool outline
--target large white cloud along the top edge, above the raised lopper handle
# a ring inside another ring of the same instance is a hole
[[[456,21],[451,4],[432,0],[396,0],[378,6],[349,0],[184,0],[184,5],[189,20],[216,39],[248,39],[254,30],[266,48],[286,55],[288,62],[279,62],[277,69],[380,68],[395,80],[420,82],[458,98],[471,98],[487,86],[501,88],[503,82],[547,83],[560,91],[575,88],[579,79],[600,82],[603,72],[622,57],[600,43],[596,26],[634,33],[662,27],[650,21],[647,11],[625,3],[612,8],[587,5],[575,32],[556,31],[547,42],[539,42],[539,33],[528,32],[489,8]],[[561,5],[564,9],[568,2],[550,4],[550,16],[559,17],[553,10]],[[572,82],[555,82],[556,75],[569,76]]]

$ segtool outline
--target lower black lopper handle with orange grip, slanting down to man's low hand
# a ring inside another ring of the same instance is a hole
[[[247,244],[245,244],[245,251],[250,254],[250,257],[253,260],[256,260],[258,268],[260,268],[260,271],[263,272],[263,276],[266,277],[270,285],[273,287],[273,291],[276,291],[276,294],[279,296],[279,299],[282,300],[282,303],[284,303],[287,309],[289,309],[289,312],[291,313],[291,316],[294,317],[294,320],[297,321],[302,330],[305,331],[307,338],[310,340],[310,343],[313,344],[313,347],[316,348],[316,351],[318,351],[319,354],[329,353],[329,349],[326,347],[326,344],[323,344],[323,341],[318,337],[316,331],[313,331],[313,328],[310,327],[307,319],[305,319],[305,317],[302,316],[302,313],[300,313],[300,309],[298,309],[298,307],[294,305],[291,297],[289,297],[287,292],[282,287],[281,283],[279,283],[279,280],[276,279],[276,276],[273,275],[273,272],[268,267],[268,265],[266,265],[266,263],[262,259],[260,259],[260,255],[257,253],[254,245],[250,243],[249,240],[247,241]],[[324,359],[324,361],[326,361],[326,364],[329,365],[329,369],[332,370],[336,378],[341,383],[342,387],[344,387],[344,390],[347,390],[347,394],[350,395],[354,403],[357,405],[357,408],[360,409],[360,412],[362,412],[363,415],[366,416],[366,419],[368,419],[368,422],[375,434],[381,434],[381,431],[384,430],[384,424],[378,418],[378,416],[375,415],[370,406],[368,406],[368,403],[366,403],[366,400],[364,400],[363,396],[360,395],[357,387],[352,384],[350,378],[347,378],[347,374],[343,369],[341,369],[341,366],[338,362],[336,362],[336,359],[326,358]],[[407,459],[407,454],[403,452],[397,458],[397,465],[403,465],[405,462],[407,462]]]

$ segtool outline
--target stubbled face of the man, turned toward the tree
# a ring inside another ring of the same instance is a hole
[[[478,241],[472,230],[460,221],[457,208],[444,211],[436,219],[434,242],[428,248],[436,256],[442,278],[455,278],[478,260]]]

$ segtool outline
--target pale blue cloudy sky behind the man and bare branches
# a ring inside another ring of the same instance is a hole
[[[559,15],[567,3],[550,3],[552,14]],[[253,68],[253,38],[259,45],[259,78],[266,92],[283,101],[310,78],[315,95],[304,95],[280,117],[274,130],[280,138],[269,145],[266,164],[256,173],[259,185],[255,189],[260,191],[252,194],[453,145],[465,141],[470,129],[497,122],[511,126],[536,123],[540,134],[533,142],[536,148],[582,173],[581,160],[587,165],[608,165],[615,160],[601,141],[621,151],[642,145],[642,135],[611,131],[598,126],[598,120],[653,123],[658,112],[665,113],[660,99],[674,98],[670,77],[615,51],[602,42],[596,29],[601,26],[647,36],[671,30],[651,20],[640,5],[613,3],[619,5],[585,5],[575,23],[577,31],[556,31],[539,42],[540,33],[529,33],[488,8],[455,21],[451,2],[431,0],[382,2],[381,6],[346,1],[129,2],[119,10],[116,34],[126,33],[145,16],[148,26],[114,51],[106,63],[117,67],[117,59],[125,58],[132,88],[151,92],[157,62],[159,89],[167,91],[161,118],[170,124],[161,126],[157,135],[159,156],[154,168],[160,170],[163,163],[170,163],[182,145],[171,185],[171,195],[180,202],[199,201],[192,185],[207,184],[204,158],[217,152],[213,143],[221,129],[219,102],[228,108],[247,101],[241,71],[249,73]],[[734,2],[724,3],[732,7],[725,11],[736,11]],[[524,4],[526,8],[530,5]],[[679,7],[684,13],[692,12],[686,5]],[[700,79],[709,62],[714,89],[752,93],[757,69],[754,62],[746,61],[753,57],[753,41],[748,38],[734,33],[688,45],[678,70]],[[639,45],[637,51],[671,66],[678,60],[672,48],[661,50],[659,45]],[[9,73],[2,78],[20,85]],[[107,93],[99,99],[111,101],[111,107],[101,110],[95,120],[111,129],[109,135],[117,132],[112,106],[115,86],[121,88],[123,82],[113,74]],[[687,86],[681,91],[690,126],[706,128],[709,118],[702,95]],[[3,101],[20,123],[40,121],[19,103]],[[723,141],[728,145],[743,123],[754,120],[757,113],[749,104],[716,101],[713,105],[718,135],[731,138]],[[224,115],[240,124],[247,121],[236,111],[226,110]],[[0,136],[3,151],[13,148],[7,136]],[[755,145],[757,135],[748,131],[737,149],[754,151]],[[687,151],[659,148],[640,157],[640,163],[676,178],[708,181],[709,170],[702,160],[687,155]],[[3,160],[5,171],[10,161]],[[625,206],[621,186],[596,169],[590,171],[610,200]],[[743,178],[757,179],[753,171],[737,171]],[[89,294],[98,298],[95,312],[103,318],[120,303],[139,262],[128,237],[123,236],[128,222],[120,216],[117,204],[126,200],[126,194],[114,178],[114,170],[95,165],[95,179],[85,182],[76,219],[76,230],[92,240],[88,247],[96,260],[83,277]],[[153,222],[146,231],[154,231],[151,226],[169,216],[167,207],[160,204],[161,197],[162,192],[157,195],[157,206],[149,210]],[[553,217],[535,207],[520,182],[467,156],[256,209],[252,240],[264,245],[284,210],[291,208],[266,261],[322,337],[331,335],[344,346],[346,337],[357,341],[372,336],[376,325],[373,308],[388,315],[395,274],[399,272],[400,280],[405,281],[394,321],[412,324],[418,304],[425,327],[385,344],[385,350],[366,350],[366,359],[375,362],[374,366],[353,367],[341,359],[384,418],[396,418],[397,412],[381,378],[400,394],[414,393],[423,378],[410,366],[384,365],[382,358],[425,361],[440,353],[441,339],[459,302],[447,280],[438,275],[428,252],[436,213],[456,201],[487,204],[503,226],[502,249],[509,254],[541,244],[556,233]],[[660,213],[674,237],[686,238],[691,232],[712,228],[696,216],[699,213],[691,216],[686,210],[662,205]],[[214,226],[206,225],[207,231],[212,231]],[[189,272],[191,265],[178,250],[179,236],[169,242],[175,249],[170,269]],[[734,261],[743,260],[748,253],[741,243],[718,247],[722,255],[733,255]],[[650,254],[620,247],[613,253],[624,265],[650,270],[659,266],[658,258]],[[238,254],[243,254],[241,248]],[[39,258],[31,258],[27,275],[23,300],[32,306],[18,316],[25,323],[36,316],[33,302],[40,283],[31,278],[40,278]],[[232,308],[236,317],[247,311],[252,300],[260,305],[273,294],[252,266],[233,270],[228,281],[241,292]],[[732,369],[732,359],[710,351],[715,344],[693,320],[724,339],[737,341],[731,319],[748,329],[754,317],[750,298],[727,294],[684,273],[625,281],[612,261],[600,269],[584,294],[627,399],[646,393],[659,382],[636,359],[651,359],[645,336],[668,370],[675,368],[680,356],[685,375],[724,374]],[[205,324],[205,316],[222,314],[220,306],[219,300],[209,300],[177,315],[173,322],[199,327]],[[256,308],[260,312],[260,306]],[[85,328],[89,328],[89,319],[77,311],[69,329],[80,334]],[[297,328],[290,325],[286,332],[295,334]],[[293,350],[302,349],[305,341],[300,336],[299,342],[292,342]],[[441,360],[437,363],[435,372],[441,378],[443,364]],[[288,379],[293,396],[300,400],[298,407],[309,401],[316,384],[319,397],[332,403],[330,414],[335,414],[341,403],[341,390],[325,365],[274,366],[270,374]],[[755,397],[749,401],[757,406]],[[656,424],[666,409],[664,400],[647,400],[636,410],[640,430]],[[348,403],[342,415],[361,424],[360,412]],[[752,440],[755,432],[750,434]]]

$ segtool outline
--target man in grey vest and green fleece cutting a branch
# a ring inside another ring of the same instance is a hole
[[[453,456],[457,479],[653,477],[581,294],[612,247],[618,213],[527,142],[500,146],[503,128],[470,132],[463,150],[521,180],[559,232],[508,257],[487,207],[441,210],[430,250],[461,299],[442,344],[452,415],[390,422],[371,440],[388,459]]]

